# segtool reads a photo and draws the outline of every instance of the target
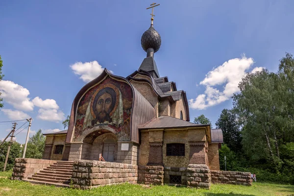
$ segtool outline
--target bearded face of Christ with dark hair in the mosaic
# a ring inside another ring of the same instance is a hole
[[[104,88],[100,90],[95,96],[93,102],[93,112],[96,118],[92,121],[92,125],[95,125],[97,122],[104,123],[108,121],[112,122],[110,113],[115,107],[116,103],[116,93],[112,88]]]

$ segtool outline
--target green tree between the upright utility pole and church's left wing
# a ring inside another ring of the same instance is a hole
[[[39,129],[35,135],[29,138],[25,157],[42,159],[44,148],[45,148],[45,136],[42,134],[42,130]]]

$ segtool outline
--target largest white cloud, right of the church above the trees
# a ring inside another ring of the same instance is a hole
[[[231,98],[234,93],[239,92],[238,84],[253,63],[252,58],[246,58],[244,55],[242,58],[230,59],[207,73],[200,82],[206,90],[204,94],[189,100],[190,107],[203,110]],[[261,67],[256,67],[252,72],[261,70]],[[217,85],[223,85],[223,91],[217,89]]]

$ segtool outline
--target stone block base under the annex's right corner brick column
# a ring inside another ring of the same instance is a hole
[[[187,186],[209,189],[211,174],[207,165],[189,164],[187,168]]]

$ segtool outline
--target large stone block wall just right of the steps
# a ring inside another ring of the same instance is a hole
[[[73,163],[74,188],[91,189],[107,184],[137,183],[138,166],[124,163],[76,160]]]

